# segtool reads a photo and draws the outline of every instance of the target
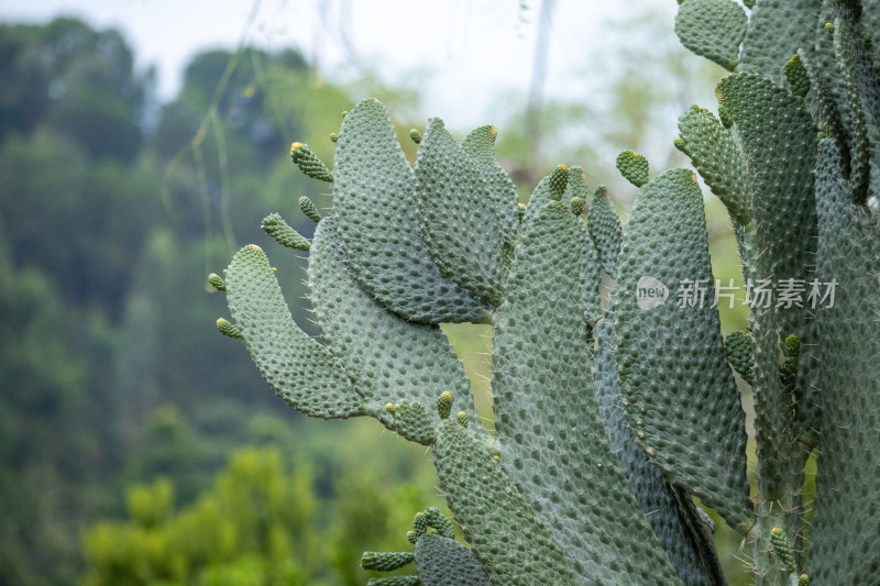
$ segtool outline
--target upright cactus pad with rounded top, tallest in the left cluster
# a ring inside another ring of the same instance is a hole
[[[333,198],[358,281],[386,308],[422,323],[483,323],[492,307],[444,277],[421,240],[416,179],[385,108],[364,100],[337,142]]]

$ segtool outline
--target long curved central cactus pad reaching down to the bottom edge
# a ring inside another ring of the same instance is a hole
[[[561,202],[550,202],[517,245],[507,299],[495,313],[502,464],[563,545],[579,579],[674,582],[584,376],[590,355],[579,294],[582,239],[588,240],[583,224]]]

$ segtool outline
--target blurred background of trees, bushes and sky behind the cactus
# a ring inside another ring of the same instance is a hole
[[[682,48],[675,2],[30,0],[0,7],[0,584],[363,585],[364,550],[406,549],[443,506],[429,454],[373,420],[314,421],[262,382],[207,275],[254,242],[295,318],[294,223],[326,184],[340,112],[382,100],[402,139],[440,115],[499,128],[520,200],[559,163],[603,183],[622,217],[691,103],[724,71]],[[415,145],[403,140],[408,156]],[[737,277],[706,191],[716,276]],[[314,225],[295,225],[310,235]],[[725,331],[746,314],[725,312]],[[486,328],[447,329],[487,399]],[[746,397],[748,405],[748,397]],[[717,540],[733,583],[739,539]]]

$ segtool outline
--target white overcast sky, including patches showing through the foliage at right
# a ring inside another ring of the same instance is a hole
[[[0,21],[73,15],[116,27],[140,69],[156,66],[163,100],[176,95],[185,65],[201,51],[296,47],[330,79],[352,80],[366,70],[392,87],[418,87],[420,103],[398,112],[410,120],[440,115],[453,132],[486,123],[503,131],[524,109],[532,77],[541,0],[522,3],[519,0],[6,0]],[[672,30],[676,10],[674,0],[557,0],[543,93],[591,104],[593,118],[574,120],[568,136],[547,137],[543,154],[559,152],[568,161],[572,144],[595,144],[607,158],[601,163],[613,166],[616,152],[597,142],[595,131],[628,122],[606,114],[613,107],[607,86],[620,79],[622,64],[635,64],[627,75],[644,81],[646,95],[670,101],[670,87],[681,82],[658,59],[670,46],[680,49]],[[676,119],[692,102],[714,107],[713,85],[686,88],[686,102],[676,98],[662,115],[652,114],[640,146],[652,165],[683,163],[670,158],[678,156],[671,148]]]

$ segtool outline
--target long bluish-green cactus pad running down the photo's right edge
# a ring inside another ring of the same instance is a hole
[[[818,311],[822,451],[817,458],[810,576],[815,584],[869,584],[880,572],[880,230],[854,206],[829,140],[820,146],[818,278],[837,279]]]

